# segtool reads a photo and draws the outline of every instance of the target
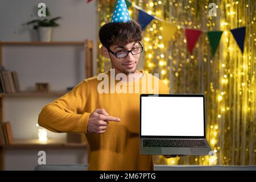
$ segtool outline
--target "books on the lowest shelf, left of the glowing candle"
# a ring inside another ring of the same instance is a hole
[[[13,143],[13,133],[9,121],[0,123],[0,144],[9,145]]]

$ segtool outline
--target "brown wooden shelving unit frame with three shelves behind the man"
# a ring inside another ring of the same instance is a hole
[[[2,48],[4,46],[83,46],[84,47],[84,77],[92,77],[92,61],[93,61],[93,42],[92,40],[84,40],[81,42],[0,42],[0,66],[3,66]],[[3,100],[6,97],[60,97],[67,93],[68,90],[49,91],[49,92],[34,92],[34,91],[22,91],[16,93],[0,93],[0,123],[3,123]],[[86,142],[82,143],[70,143],[67,140],[60,139],[48,139],[47,142],[40,142],[38,139],[14,139],[11,144],[0,144],[0,170],[5,166],[5,149],[6,148],[36,148],[43,147],[65,147],[65,148],[85,148],[87,150],[89,158],[89,147]],[[89,161],[89,160],[88,160]]]

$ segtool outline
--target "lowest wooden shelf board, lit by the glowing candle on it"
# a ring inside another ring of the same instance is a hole
[[[46,142],[40,142],[38,139],[16,139],[11,144],[2,144],[4,147],[82,147],[85,148],[87,143],[68,143],[65,140],[48,139]]]

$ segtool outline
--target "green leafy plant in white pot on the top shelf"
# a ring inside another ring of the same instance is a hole
[[[49,16],[48,8],[46,8],[46,16]],[[57,24],[55,21],[60,18],[61,17],[58,16],[52,19],[49,19],[49,18],[35,19],[35,20],[31,20],[30,22],[27,22],[27,25],[32,24],[33,28],[38,31],[39,41],[51,42],[52,27],[59,26],[59,24]]]

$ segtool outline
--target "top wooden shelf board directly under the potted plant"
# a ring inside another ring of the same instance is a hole
[[[85,42],[1,42],[3,46],[83,46]]]

